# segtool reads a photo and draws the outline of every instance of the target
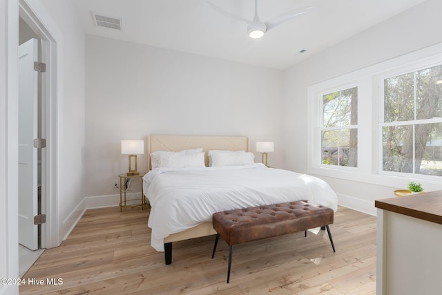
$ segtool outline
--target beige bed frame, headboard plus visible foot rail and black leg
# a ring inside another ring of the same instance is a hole
[[[200,136],[200,135],[150,135],[148,137],[148,154],[154,151],[182,151],[184,149],[198,149],[202,147],[205,153],[206,166],[209,166],[207,152],[210,150],[249,151],[249,139],[244,136]],[[148,159],[149,169],[151,158]],[[216,234],[212,222],[181,231],[164,238],[164,261],[166,265],[172,263],[172,242],[211,236]]]

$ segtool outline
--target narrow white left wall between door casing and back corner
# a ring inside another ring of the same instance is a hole
[[[84,211],[85,35],[69,0],[41,0],[59,40],[58,204],[59,235],[64,238]]]

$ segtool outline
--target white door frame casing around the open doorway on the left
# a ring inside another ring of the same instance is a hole
[[[41,137],[46,148],[41,152],[41,213],[46,223],[41,225],[41,248],[57,247],[61,243],[58,212],[58,113],[61,93],[61,32],[39,1],[19,0],[19,16],[41,39],[41,62],[46,73],[41,75]],[[18,46],[18,44],[17,44]],[[18,182],[18,181],[17,181]]]

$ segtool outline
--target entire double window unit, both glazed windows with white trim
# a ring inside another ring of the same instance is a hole
[[[308,173],[441,187],[442,44],[310,85],[308,97]]]

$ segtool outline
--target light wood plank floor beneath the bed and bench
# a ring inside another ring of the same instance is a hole
[[[164,253],[150,246],[148,213],[86,211],[68,239],[44,251],[24,276],[44,285],[21,285],[20,294],[376,294],[373,216],[339,207],[330,225],[336,253],[327,231],[238,245],[227,284],[225,242],[214,259],[214,236],[175,242],[173,263],[164,265]]]

